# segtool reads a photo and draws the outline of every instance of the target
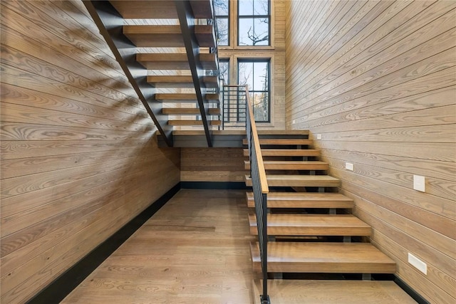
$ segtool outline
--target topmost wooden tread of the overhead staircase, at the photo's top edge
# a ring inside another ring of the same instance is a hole
[[[110,1],[124,19],[177,19],[174,1]],[[212,19],[212,1],[190,0],[197,19]]]

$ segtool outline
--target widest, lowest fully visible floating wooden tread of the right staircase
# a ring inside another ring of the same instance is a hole
[[[258,243],[251,243],[261,270]],[[371,243],[269,242],[268,272],[395,273],[395,262]]]

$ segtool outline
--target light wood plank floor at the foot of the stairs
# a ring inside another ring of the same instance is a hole
[[[252,282],[257,276],[252,272],[250,241],[245,192],[183,189],[63,303],[254,303],[257,288]],[[327,293],[328,282],[322,282],[319,296],[302,302],[304,295],[318,290],[318,281],[304,282],[275,281],[271,287],[279,289],[271,300],[274,304],[379,303],[379,299],[413,303],[392,282],[365,284],[359,295],[344,290],[343,284],[337,295]],[[340,281],[333,281],[332,288],[337,288],[336,282]]]

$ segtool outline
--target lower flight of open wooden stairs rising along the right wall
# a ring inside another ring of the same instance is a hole
[[[306,273],[307,278],[309,273],[338,273],[341,278],[357,273],[364,279],[373,273],[395,273],[394,261],[366,242],[371,227],[351,214],[353,200],[337,193],[340,181],[326,174],[328,164],[311,149],[309,132],[277,133],[259,135],[273,189],[267,196],[268,273],[275,278],[285,273]],[[250,168],[249,162],[245,168]],[[249,176],[245,182],[252,185]],[[247,204],[254,208],[252,192],[247,192]],[[249,223],[251,234],[257,235],[253,211]],[[251,244],[251,252],[254,270],[261,271],[258,243]]]

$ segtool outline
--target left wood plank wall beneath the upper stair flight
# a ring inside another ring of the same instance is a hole
[[[1,303],[24,303],[180,180],[81,1],[1,1]]]

